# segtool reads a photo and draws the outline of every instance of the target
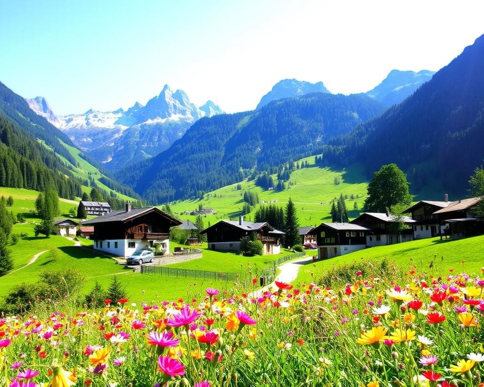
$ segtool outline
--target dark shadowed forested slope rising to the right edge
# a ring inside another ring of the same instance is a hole
[[[403,103],[330,141],[322,165],[362,162],[370,175],[396,163],[412,190],[438,181],[465,195],[472,171],[484,162],[484,35]]]

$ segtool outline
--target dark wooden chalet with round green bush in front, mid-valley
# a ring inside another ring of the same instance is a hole
[[[208,248],[210,250],[239,250],[240,239],[257,234],[257,239],[264,246],[264,254],[279,254],[281,252],[280,237],[282,231],[274,229],[269,223],[253,223],[244,221],[239,217],[238,221],[221,220],[206,228],[202,234],[207,234]]]

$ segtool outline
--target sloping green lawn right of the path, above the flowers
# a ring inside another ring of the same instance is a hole
[[[365,260],[381,260],[388,258],[403,270],[415,265],[420,271],[433,272],[436,275],[466,272],[469,275],[480,273],[484,266],[482,259],[484,251],[484,235],[458,240],[429,238],[409,242],[378,246],[355,251],[332,259],[317,261],[314,264],[301,266],[294,284],[317,281],[322,273],[333,265]],[[432,269],[429,265],[434,261]],[[442,259],[443,257],[443,259]],[[464,264],[462,264],[462,261]]]

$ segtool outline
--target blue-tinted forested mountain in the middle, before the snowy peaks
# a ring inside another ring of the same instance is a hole
[[[330,138],[383,111],[366,95],[313,93],[202,118],[168,150],[116,177],[151,202],[190,198],[315,154]]]

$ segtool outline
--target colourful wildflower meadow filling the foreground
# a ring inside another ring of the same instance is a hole
[[[484,280],[397,282],[4,316],[0,386],[484,386]]]

